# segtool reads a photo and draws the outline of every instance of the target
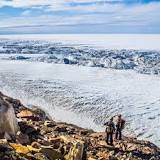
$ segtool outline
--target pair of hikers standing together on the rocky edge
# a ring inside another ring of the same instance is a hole
[[[106,142],[109,145],[113,144],[113,134],[115,133],[115,139],[122,139],[122,130],[125,125],[125,120],[122,118],[122,115],[118,115],[116,124],[113,122],[113,117],[104,125],[106,125]]]

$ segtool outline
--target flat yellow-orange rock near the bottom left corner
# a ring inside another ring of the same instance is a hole
[[[9,143],[9,145],[19,154],[28,154],[30,150],[21,144]]]

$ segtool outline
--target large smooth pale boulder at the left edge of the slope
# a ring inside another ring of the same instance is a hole
[[[16,135],[19,130],[13,106],[0,96],[0,135]]]

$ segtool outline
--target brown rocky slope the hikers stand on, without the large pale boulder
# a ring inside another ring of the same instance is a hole
[[[0,160],[160,159],[160,149],[148,141],[123,137],[108,146],[103,132],[55,122],[40,109],[28,109],[19,100],[2,93],[0,99],[5,100],[5,107],[14,108],[19,127],[10,140],[0,139]]]

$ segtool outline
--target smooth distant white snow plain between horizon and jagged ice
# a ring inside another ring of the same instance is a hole
[[[0,35],[0,39],[47,40],[107,49],[160,50],[160,34],[36,34]]]

